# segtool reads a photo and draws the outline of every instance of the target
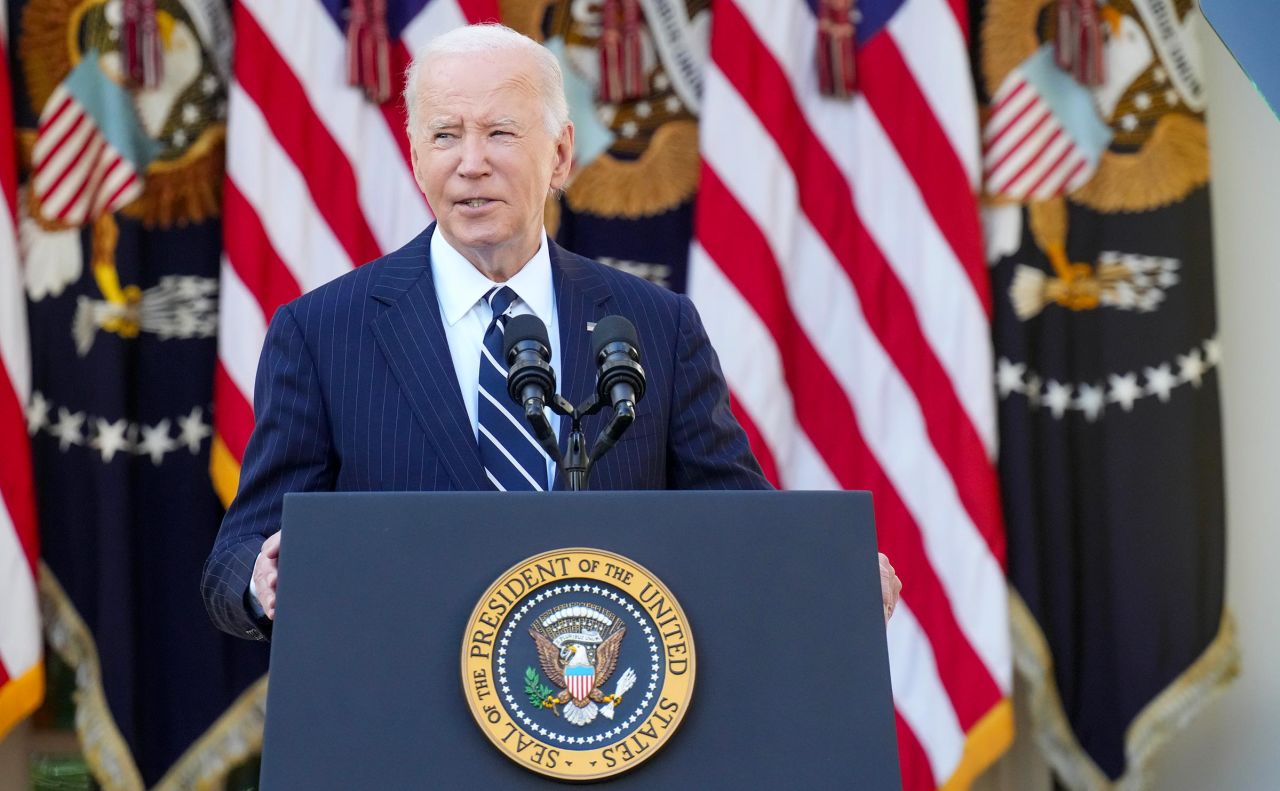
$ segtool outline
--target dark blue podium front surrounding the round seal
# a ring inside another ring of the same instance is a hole
[[[567,547],[630,558],[684,608],[696,682],[620,788],[900,788],[867,493],[291,494],[262,788],[544,788],[463,696],[472,609]]]

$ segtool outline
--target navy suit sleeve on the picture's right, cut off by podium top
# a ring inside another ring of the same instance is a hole
[[[772,489],[728,404],[728,385],[698,310],[680,300],[671,378],[667,485],[671,489]]]

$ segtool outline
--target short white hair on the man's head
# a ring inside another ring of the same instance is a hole
[[[559,136],[568,123],[568,101],[564,99],[564,74],[556,55],[524,33],[497,23],[468,24],[433,38],[419,50],[404,79],[404,108],[408,110],[408,136],[413,140],[422,123],[422,64],[440,55],[476,52],[527,52],[535,64],[534,82],[543,101],[543,119],[552,137]]]

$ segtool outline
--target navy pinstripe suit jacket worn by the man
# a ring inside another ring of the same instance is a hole
[[[253,639],[269,631],[244,594],[264,539],[280,529],[285,493],[493,489],[444,337],[434,228],[271,319],[239,490],[205,563],[205,604],[219,628]],[[622,315],[640,338],[645,397],[630,431],[593,467],[591,488],[768,488],[689,298],[554,243],[550,261],[566,398],[581,403],[595,387],[588,323]],[[588,447],[604,420],[584,421]]]

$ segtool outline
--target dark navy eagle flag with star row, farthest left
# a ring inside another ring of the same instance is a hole
[[[74,671],[100,786],[218,783],[256,747],[261,705],[237,701],[266,667],[210,628],[195,584],[221,518],[207,471],[229,17],[219,0],[10,5],[45,636]],[[157,32],[152,82],[129,77],[129,19]]]

